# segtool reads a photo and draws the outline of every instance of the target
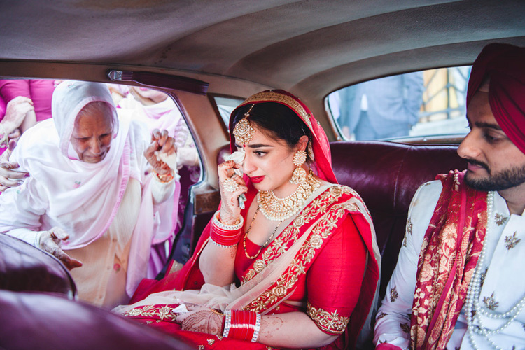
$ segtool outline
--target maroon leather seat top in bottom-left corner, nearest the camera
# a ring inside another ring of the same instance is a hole
[[[0,349],[194,349],[182,339],[60,295],[0,290],[0,310]]]

